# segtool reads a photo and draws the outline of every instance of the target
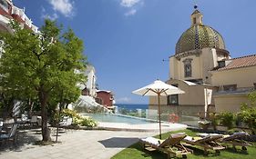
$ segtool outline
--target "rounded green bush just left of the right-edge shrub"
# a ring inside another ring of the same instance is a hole
[[[231,112],[222,112],[218,114],[218,118],[221,125],[227,126],[228,129],[233,127],[235,121],[235,114]]]

